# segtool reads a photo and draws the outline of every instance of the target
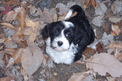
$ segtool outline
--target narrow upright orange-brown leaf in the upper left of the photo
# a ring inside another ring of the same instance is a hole
[[[22,30],[25,28],[25,15],[26,15],[26,11],[24,8],[22,8],[17,15]]]

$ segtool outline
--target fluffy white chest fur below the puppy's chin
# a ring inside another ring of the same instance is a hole
[[[74,60],[75,53],[77,52],[76,48],[73,44],[71,44],[69,50],[59,52],[50,47],[50,39],[48,38],[46,41],[46,52],[53,59],[53,61],[57,64],[71,64]]]

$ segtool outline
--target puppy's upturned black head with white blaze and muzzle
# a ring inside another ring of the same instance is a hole
[[[66,51],[73,41],[74,25],[68,21],[58,21],[48,24],[43,29],[46,44],[56,51]]]

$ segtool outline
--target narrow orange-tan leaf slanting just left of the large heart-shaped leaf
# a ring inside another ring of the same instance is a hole
[[[14,64],[14,63],[19,63],[20,62],[20,60],[21,60],[21,55],[22,55],[22,53],[23,53],[23,48],[20,48],[20,49],[17,49],[17,51],[15,51],[13,54],[12,54],[12,56],[11,56],[11,58],[10,58],[10,60],[9,60],[9,63],[7,64],[7,68],[9,67],[9,66],[11,66],[12,64]]]

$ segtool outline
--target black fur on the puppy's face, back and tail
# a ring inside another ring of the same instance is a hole
[[[64,34],[67,40],[74,45],[78,45],[77,53],[75,53],[74,62],[79,60],[82,57],[82,52],[85,51],[86,47],[91,44],[95,39],[95,34],[83,9],[78,6],[74,5],[70,8],[73,12],[78,12],[76,16],[71,17],[68,22],[72,22],[74,27],[70,27],[64,31]],[[64,29],[64,25],[61,21],[53,22],[45,26],[43,30],[43,37],[44,39],[51,37],[51,41],[56,36],[59,36],[62,29]]]

